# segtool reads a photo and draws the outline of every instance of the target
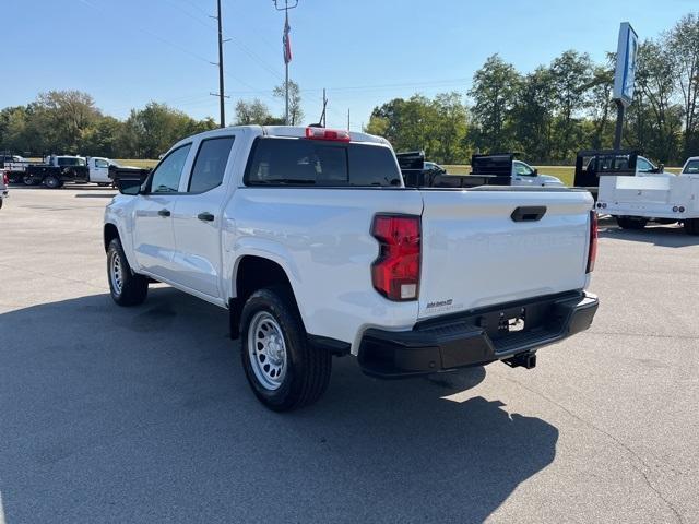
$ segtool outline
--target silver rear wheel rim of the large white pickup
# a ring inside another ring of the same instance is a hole
[[[258,382],[269,391],[282,385],[288,355],[279,322],[266,311],[252,317],[248,330],[248,356]]]

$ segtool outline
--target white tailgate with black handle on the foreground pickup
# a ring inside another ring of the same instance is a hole
[[[587,191],[422,194],[420,319],[584,287],[592,209]],[[545,213],[516,222],[520,207]]]

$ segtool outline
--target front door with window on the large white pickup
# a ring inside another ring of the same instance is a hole
[[[133,249],[138,264],[165,279],[175,276],[173,210],[191,144],[170,152],[157,165],[133,210]]]

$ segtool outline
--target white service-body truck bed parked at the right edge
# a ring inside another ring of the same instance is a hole
[[[682,223],[699,235],[699,174],[677,177],[600,177],[597,213],[616,217],[625,229],[642,229],[649,222]]]

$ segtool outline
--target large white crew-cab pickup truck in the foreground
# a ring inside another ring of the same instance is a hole
[[[589,192],[407,188],[378,136],[226,128],[118,184],[104,224],[114,300],[143,302],[154,279],[228,309],[275,410],[316,401],[333,355],[381,378],[532,368],[597,309]]]

